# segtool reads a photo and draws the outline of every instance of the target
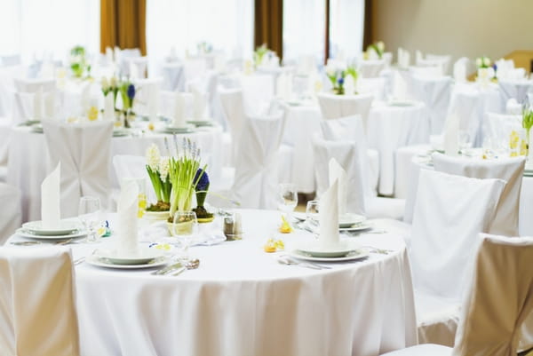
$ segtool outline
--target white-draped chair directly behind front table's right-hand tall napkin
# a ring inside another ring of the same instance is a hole
[[[316,194],[318,197],[330,186],[329,162],[331,158],[346,170],[348,181],[347,209],[368,218],[401,219],[404,202],[399,199],[378,198],[370,193],[365,171],[365,161],[359,143],[352,140],[326,140],[314,137],[314,162]]]

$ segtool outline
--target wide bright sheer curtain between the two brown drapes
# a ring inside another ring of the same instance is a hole
[[[183,58],[208,43],[228,59],[251,57],[253,0],[147,0],[147,55]]]

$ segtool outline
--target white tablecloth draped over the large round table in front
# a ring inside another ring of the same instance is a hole
[[[82,354],[378,356],[416,344],[410,263],[401,235],[346,237],[389,249],[387,255],[322,263],[330,266],[323,270],[281,265],[275,257],[285,252],[264,252],[267,239],[281,238],[290,249],[313,239],[311,233],[276,234],[279,212],[240,211],[243,240],[191,247],[200,266],[177,277],[152,275],[153,269],[76,265]],[[115,228],[116,217],[107,218]],[[220,228],[218,219],[214,226]],[[7,243],[20,240],[13,235]],[[112,247],[114,240],[112,235],[70,246],[76,259]]]

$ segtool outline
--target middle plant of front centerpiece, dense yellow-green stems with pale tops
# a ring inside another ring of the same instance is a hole
[[[171,222],[176,211],[192,210],[193,196],[196,186],[207,168],[204,165],[201,173],[200,169],[200,148],[196,147],[190,139],[183,139],[182,149],[179,152],[178,144],[174,136],[174,145],[176,146],[176,156],[171,156],[169,162],[169,174],[171,178]]]

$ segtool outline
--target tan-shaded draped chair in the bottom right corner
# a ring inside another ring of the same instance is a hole
[[[515,356],[518,328],[533,310],[533,240],[481,233],[453,349],[419,344],[383,356]]]

